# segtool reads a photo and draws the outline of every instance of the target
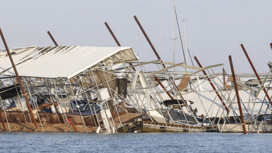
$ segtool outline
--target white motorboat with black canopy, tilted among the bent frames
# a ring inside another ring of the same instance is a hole
[[[186,103],[186,104],[185,104]],[[196,115],[197,109],[192,110],[191,104],[194,102],[192,101],[183,101],[183,100],[166,100],[163,101],[161,104],[168,106],[168,109],[155,109],[149,110],[149,114],[151,115],[154,122],[159,123],[167,123],[167,124],[183,124],[183,125],[190,125],[190,126],[200,126],[198,123],[202,124],[202,126],[210,126],[213,125],[212,122],[198,117]],[[182,111],[181,107],[188,106],[192,115],[187,114]],[[193,116],[194,115],[194,116]]]

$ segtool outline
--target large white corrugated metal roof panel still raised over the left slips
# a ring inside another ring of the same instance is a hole
[[[72,78],[114,54],[118,56],[120,52],[126,59],[139,59],[130,47],[59,46],[19,64],[16,69],[20,76],[26,77]],[[3,64],[1,61],[0,63]],[[15,76],[13,68],[3,75]]]

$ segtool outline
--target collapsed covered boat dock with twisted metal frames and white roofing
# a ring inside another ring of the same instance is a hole
[[[271,132],[271,62],[270,71],[260,75],[235,75],[231,56],[232,73],[224,64],[202,67],[196,57],[199,67],[163,62],[135,20],[158,60],[142,62],[132,48],[119,43],[55,43],[9,51],[1,33],[6,46],[0,58],[3,130]]]

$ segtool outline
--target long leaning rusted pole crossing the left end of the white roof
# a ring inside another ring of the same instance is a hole
[[[1,37],[2,37],[2,40],[3,40],[3,43],[5,45],[5,48],[6,48],[7,52],[8,52],[8,57],[9,57],[9,59],[11,61],[11,64],[12,64],[13,70],[14,70],[14,72],[16,74],[18,83],[20,84],[21,90],[23,92],[23,95],[24,95],[24,98],[25,98],[25,101],[26,101],[26,104],[27,104],[27,108],[28,108],[28,110],[30,112],[30,115],[31,115],[31,118],[32,118],[32,122],[35,124],[36,130],[39,131],[39,126],[38,126],[38,124],[37,124],[37,122],[35,120],[35,117],[34,117],[34,114],[32,112],[32,109],[30,107],[29,101],[28,101],[27,96],[25,94],[25,89],[24,89],[23,84],[21,82],[20,76],[18,75],[17,69],[16,69],[16,67],[14,65],[13,59],[11,57],[11,53],[8,50],[8,45],[7,45],[6,41],[5,41],[4,35],[3,35],[2,31],[1,31],[1,28],[0,28],[0,34],[1,34]]]

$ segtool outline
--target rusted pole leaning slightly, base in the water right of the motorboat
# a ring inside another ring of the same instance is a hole
[[[238,103],[239,112],[240,112],[240,116],[241,116],[243,131],[244,131],[244,134],[246,134],[247,131],[246,131],[246,126],[244,124],[245,123],[245,121],[244,121],[244,115],[243,115],[243,112],[242,112],[242,107],[241,107],[240,97],[239,97],[239,93],[238,93],[238,88],[237,88],[237,83],[236,83],[236,78],[235,78],[233,63],[232,63],[231,56],[228,56],[228,58],[230,60],[230,68],[231,68],[231,73],[232,73],[232,77],[233,77],[233,83],[234,83],[234,88],[235,88],[235,92],[236,92],[237,103]]]

